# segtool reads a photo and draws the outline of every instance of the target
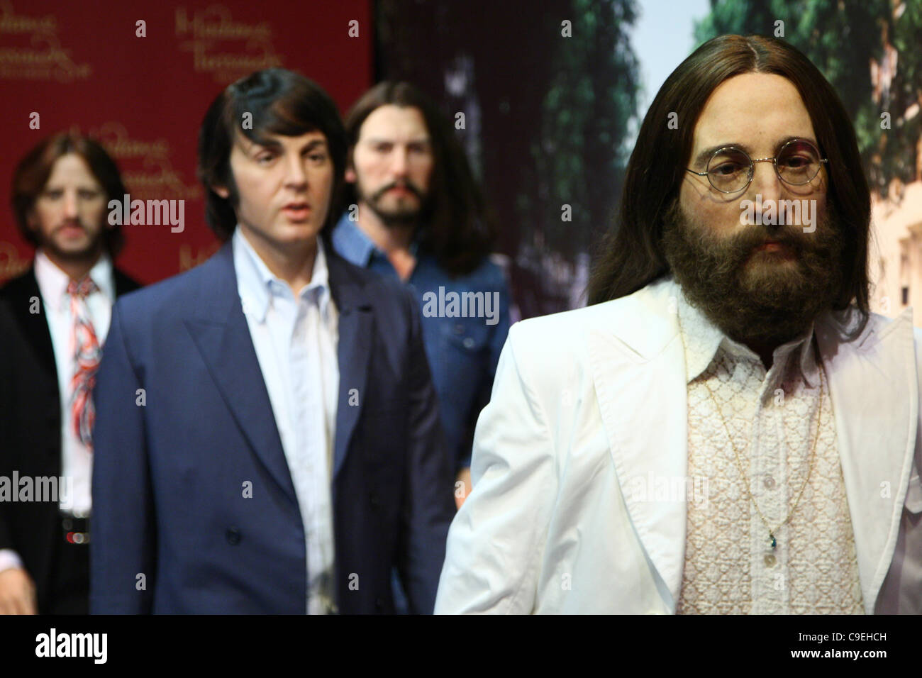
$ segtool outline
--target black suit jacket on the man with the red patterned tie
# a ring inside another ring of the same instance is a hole
[[[114,271],[115,294],[138,288]],[[61,396],[51,331],[30,300],[41,300],[35,271],[0,289],[0,476],[61,475]],[[53,540],[61,538],[56,502],[0,502],[0,549],[15,549],[35,581],[39,613],[48,607]]]

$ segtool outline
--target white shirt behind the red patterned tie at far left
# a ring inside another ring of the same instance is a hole
[[[54,366],[58,377],[58,394],[61,401],[61,477],[58,506],[77,517],[89,516],[90,479],[92,477],[92,452],[77,437],[71,423],[70,382],[74,376],[74,316],[70,310],[68,275],[57,267],[40,249],[35,255],[35,278],[39,283],[41,303],[54,350]],[[112,260],[103,254],[89,277],[96,283],[96,291],[87,297],[89,318],[102,346],[109,332],[112,303],[115,302],[115,281],[112,277]],[[10,567],[21,567],[22,561],[12,549],[0,549],[0,572]]]

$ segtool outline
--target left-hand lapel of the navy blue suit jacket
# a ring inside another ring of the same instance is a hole
[[[243,315],[231,243],[202,264],[195,315],[185,325],[247,443],[297,504],[266,382]]]

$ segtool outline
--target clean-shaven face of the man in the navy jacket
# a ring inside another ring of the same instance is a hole
[[[257,244],[280,252],[313,241],[326,220],[333,190],[333,160],[323,132],[268,135],[263,143],[237,135],[231,149],[240,227]],[[228,197],[227,187],[215,187]]]

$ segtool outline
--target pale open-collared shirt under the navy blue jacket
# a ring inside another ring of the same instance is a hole
[[[297,296],[256,254],[238,227],[232,239],[243,314],[298,497],[307,560],[309,614],[333,609],[330,491],[339,366],[336,304],[317,238],[311,281]]]

